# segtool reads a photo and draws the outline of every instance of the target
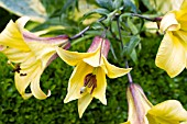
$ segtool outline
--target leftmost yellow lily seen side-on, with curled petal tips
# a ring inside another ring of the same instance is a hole
[[[50,91],[48,94],[45,94],[41,90],[41,75],[57,57],[55,47],[66,45],[68,37],[65,35],[38,37],[24,29],[28,21],[29,18],[23,16],[15,23],[13,21],[8,23],[0,34],[0,45],[3,47],[1,52],[9,58],[9,64],[14,68],[15,87],[20,94],[24,99],[31,95],[45,99],[50,95]],[[25,93],[25,89],[30,84],[31,93]]]

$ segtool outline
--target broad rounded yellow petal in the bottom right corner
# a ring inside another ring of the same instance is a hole
[[[187,111],[176,100],[167,100],[153,106],[148,114],[158,124],[179,124],[187,120]]]

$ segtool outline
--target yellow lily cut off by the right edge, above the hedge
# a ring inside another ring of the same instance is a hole
[[[170,11],[161,21],[165,33],[156,55],[156,66],[173,78],[187,67],[187,0],[177,11]]]

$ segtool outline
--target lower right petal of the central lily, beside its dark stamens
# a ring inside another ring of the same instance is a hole
[[[94,90],[92,97],[99,99],[102,102],[102,104],[107,105],[107,99],[106,99],[106,88],[107,88],[106,72],[100,67],[97,68],[96,79],[97,79],[97,88]]]

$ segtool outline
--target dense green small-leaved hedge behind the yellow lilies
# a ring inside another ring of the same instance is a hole
[[[15,20],[18,16],[0,9],[0,31],[10,19]],[[69,32],[73,34],[73,31]],[[143,49],[138,54],[139,64],[129,61],[133,68],[131,74],[134,82],[142,86],[153,104],[176,99],[187,109],[187,70],[170,79],[165,71],[155,66],[154,61],[162,36],[144,33],[141,36]],[[92,37],[74,45],[70,50],[86,52],[91,40]],[[121,65],[117,64],[111,52],[108,59],[111,64],[124,67],[123,60]],[[14,87],[12,68],[7,64],[6,56],[0,54],[0,124],[118,124],[127,121],[127,76],[108,79],[108,105],[102,105],[99,100],[94,99],[82,119],[79,119],[77,101],[63,103],[72,71],[73,67],[57,58],[41,78],[42,89],[44,91],[51,89],[52,95],[46,100],[37,100],[34,97],[23,100]]]

